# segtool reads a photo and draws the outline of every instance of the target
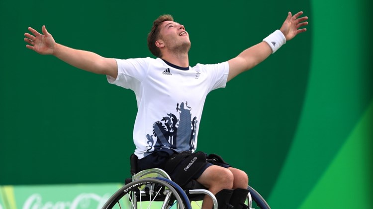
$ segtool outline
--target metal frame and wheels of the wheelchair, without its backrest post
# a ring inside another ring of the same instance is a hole
[[[196,183],[195,180],[192,181]],[[162,169],[152,168],[143,170],[133,174],[131,182],[124,185],[112,195],[102,209],[112,209],[126,194],[129,194],[128,197],[131,202],[131,209],[137,209],[138,202],[140,201],[141,204],[143,199],[150,202],[148,208],[154,201],[163,201],[161,208],[170,209],[175,205],[176,201],[178,209],[191,209],[190,202],[200,201],[205,195],[208,195],[212,199],[213,209],[218,209],[215,196],[210,191],[203,188],[203,186],[199,185],[199,183],[196,183],[196,185],[196,188],[182,189],[173,182],[170,176]],[[140,188],[142,188],[142,190]],[[253,202],[256,203],[260,209],[270,209],[270,206],[257,191],[250,186],[248,186],[248,189],[247,205],[249,209],[253,209]],[[156,197],[158,195],[160,198]],[[142,207],[140,206],[140,208]]]

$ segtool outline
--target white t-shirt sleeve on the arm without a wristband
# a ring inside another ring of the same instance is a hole
[[[151,58],[115,59],[118,75],[116,79],[107,75],[107,81],[123,88],[134,89],[146,76],[150,60]]]

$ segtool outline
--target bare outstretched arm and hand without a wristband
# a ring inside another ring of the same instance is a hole
[[[26,47],[42,55],[54,55],[58,59],[82,70],[98,74],[107,74],[116,78],[117,64],[114,59],[101,57],[93,52],[72,49],[61,44],[58,44],[48,33],[45,26],[42,27],[40,34],[35,29],[29,27],[28,30],[32,33],[25,33],[24,41],[28,44]]]

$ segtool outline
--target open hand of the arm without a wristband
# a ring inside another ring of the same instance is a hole
[[[24,41],[28,44],[26,47],[28,49],[34,50],[35,52],[42,55],[52,55],[54,53],[54,48],[56,42],[54,41],[52,35],[48,33],[45,25],[41,28],[43,34],[40,34],[35,29],[28,27],[28,30],[33,34],[25,33]]]

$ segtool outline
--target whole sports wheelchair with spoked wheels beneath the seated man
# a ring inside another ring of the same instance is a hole
[[[218,209],[216,197],[195,180],[180,187],[162,169],[151,168],[137,171],[137,156],[130,157],[131,178],[115,192],[102,209],[197,209],[205,195],[213,201],[213,209]],[[247,209],[270,209],[265,199],[252,187],[245,202]],[[233,208],[232,208],[233,209]]]

